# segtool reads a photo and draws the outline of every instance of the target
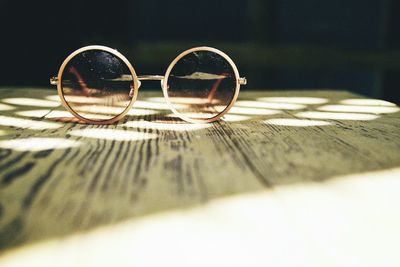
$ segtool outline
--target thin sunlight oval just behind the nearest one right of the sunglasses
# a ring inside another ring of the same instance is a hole
[[[322,111],[300,112],[297,113],[296,116],[309,119],[353,120],[353,121],[370,121],[370,120],[376,120],[380,117],[373,114],[322,112]]]

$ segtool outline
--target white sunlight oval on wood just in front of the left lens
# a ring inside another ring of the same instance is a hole
[[[104,129],[104,128],[87,128],[82,130],[73,130],[69,134],[73,136],[116,140],[116,141],[139,141],[139,140],[155,139],[158,137],[158,135],[151,133],[140,133],[133,131]]]

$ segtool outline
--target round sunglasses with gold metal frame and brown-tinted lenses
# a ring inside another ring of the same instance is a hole
[[[191,123],[220,119],[235,103],[240,86],[247,83],[232,59],[215,48],[182,52],[164,76],[138,76],[121,53],[99,45],[70,54],[50,83],[57,85],[61,102],[75,117],[87,123],[110,124],[129,112],[144,80],[161,81],[172,112]]]

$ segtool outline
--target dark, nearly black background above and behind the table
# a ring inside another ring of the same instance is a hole
[[[0,0],[0,86],[48,86],[89,44],[117,48],[138,74],[163,74],[181,51],[208,45],[233,58],[243,90],[344,89],[399,103],[398,14],[395,0]]]

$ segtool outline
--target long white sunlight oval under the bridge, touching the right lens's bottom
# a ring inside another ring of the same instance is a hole
[[[128,121],[124,124],[121,124],[120,126],[127,126],[130,128],[140,128],[140,129],[153,129],[161,131],[195,131],[195,130],[209,128],[212,126],[212,124]]]

